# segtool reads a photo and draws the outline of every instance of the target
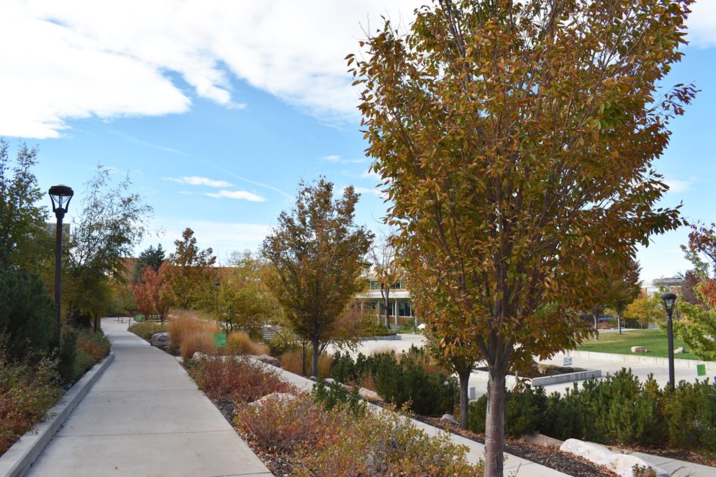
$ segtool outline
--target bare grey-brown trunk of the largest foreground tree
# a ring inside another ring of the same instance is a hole
[[[505,448],[506,366],[490,366],[488,407],[485,415],[485,477],[503,477]]]

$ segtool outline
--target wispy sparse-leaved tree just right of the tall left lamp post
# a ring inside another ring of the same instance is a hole
[[[129,176],[113,186],[110,170],[97,165],[85,184],[82,210],[69,239],[63,280],[70,316],[90,314],[95,331],[112,304],[112,280],[125,282],[125,257],[142,241],[153,209],[130,192]]]

